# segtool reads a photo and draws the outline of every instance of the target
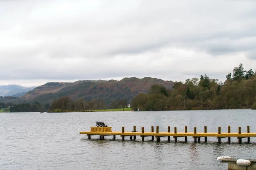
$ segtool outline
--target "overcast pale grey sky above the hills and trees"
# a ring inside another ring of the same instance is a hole
[[[256,69],[255,0],[0,0],[0,85]]]

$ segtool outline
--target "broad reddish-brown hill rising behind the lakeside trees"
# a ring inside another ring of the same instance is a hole
[[[126,99],[131,101],[141,92],[148,92],[151,85],[164,85],[166,89],[172,89],[174,82],[162,79],[136,77],[117,80],[83,80],[76,82],[48,82],[41,85],[24,96],[20,97],[24,102],[51,103],[54,99],[69,96],[71,99],[83,98],[84,100],[103,99],[106,104],[111,100]]]

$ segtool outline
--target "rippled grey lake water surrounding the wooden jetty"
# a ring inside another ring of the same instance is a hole
[[[146,137],[141,142],[120,136],[92,136],[88,140],[80,131],[90,131],[96,121],[112,126],[113,131],[137,131],[145,127],[159,126],[160,131],[189,132],[256,132],[256,111],[254,110],[211,110],[211,111],[159,111],[159,112],[92,112],[92,113],[0,113],[0,169],[1,170],[227,170],[227,164],[217,161],[218,156],[236,156],[241,159],[256,158],[256,138],[221,139],[208,137],[207,143],[194,143],[192,137],[178,138],[175,143],[167,137],[161,142],[151,142]]]

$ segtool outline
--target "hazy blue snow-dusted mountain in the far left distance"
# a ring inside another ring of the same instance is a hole
[[[0,96],[20,97],[35,87],[26,88],[21,85],[0,85]]]

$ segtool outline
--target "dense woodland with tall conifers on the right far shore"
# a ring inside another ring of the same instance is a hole
[[[132,99],[134,111],[201,110],[256,108],[256,74],[245,71],[242,63],[226,76],[224,83],[206,74],[185,82],[175,82],[173,90],[151,86],[148,93]]]

